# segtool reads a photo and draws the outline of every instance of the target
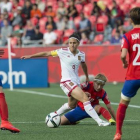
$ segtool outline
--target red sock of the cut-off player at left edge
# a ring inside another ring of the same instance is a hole
[[[2,120],[8,120],[8,107],[4,93],[0,93],[0,116]]]

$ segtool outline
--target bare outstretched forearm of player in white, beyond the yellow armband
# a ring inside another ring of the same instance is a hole
[[[40,53],[36,53],[33,55],[25,55],[25,56],[22,56],[21,59],[29,59],[29,58],[36,58],[36,57],[48,57],[48,56],[52,56],[51,52],[40,52]]]

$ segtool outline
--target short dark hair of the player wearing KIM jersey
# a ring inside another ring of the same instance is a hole
[[[130,18],[135,25],[140,24],[140,7],[136,7],[130,10]]]

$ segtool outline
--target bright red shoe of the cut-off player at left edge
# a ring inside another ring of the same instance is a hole
[[[2,121],[1,126],[0,126],[1,130],[9,130],[12,133],[19,133],[20,130],[15,128],[10,122],[8,121]]]

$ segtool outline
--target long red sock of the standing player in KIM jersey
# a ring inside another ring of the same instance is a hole
[[[127,105],[119,104],[116,114],[116,133],[120,133],[122,135],[122,125],[125,118],[125,112],[127,109]]]

